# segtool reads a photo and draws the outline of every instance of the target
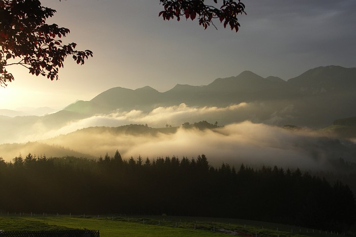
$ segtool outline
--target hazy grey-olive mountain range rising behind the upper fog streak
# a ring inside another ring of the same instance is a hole
[[[268,113],[292,108],[283,123],[321,127],[335,119],[352,117],[356,113],[356,68],[320,66],[284,81],[278,77],[262,78],[250,71],[236,77],[218,78],[209,85],[177,84],[159,92],[150,86],[135,90],[115,87],[90,101],[77,101],[64,111],[90,116],[108,114],[120,109],[151,111],[163,106],[185,103],[191,107],[226,107],[239,103],[263,103]],[[255,122],[263,122],[258,113]]]

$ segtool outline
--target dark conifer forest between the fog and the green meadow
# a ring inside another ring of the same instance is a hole
[[[0,190],[3,212],[224,217],[338,231],[356,220],[353,193],[340,181],[298,168],[214,167],[205,155],[0,158]]]

